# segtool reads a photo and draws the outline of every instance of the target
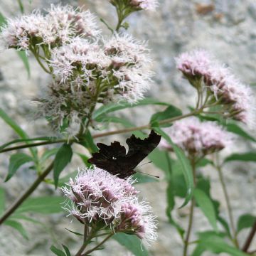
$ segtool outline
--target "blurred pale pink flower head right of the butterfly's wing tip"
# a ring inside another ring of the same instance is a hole
[[[168,134],[188,155],[198,157],[220,151],[233,140],[233,135],[223,127],[215,122],[201,122],[197,117],[174,122]],[[165,140],[161,141],[161,146],[171,149]]]

